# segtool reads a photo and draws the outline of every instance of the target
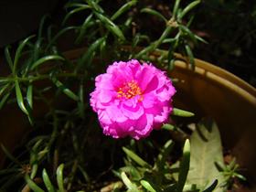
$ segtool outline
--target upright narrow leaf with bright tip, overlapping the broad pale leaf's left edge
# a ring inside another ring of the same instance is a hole
[[[190,161],[190,144],[189,144],[189,140],[187,139],[184,144],[182,160],[181,160],[180,166],[179,166],[176,192],[183,191],[183,188],[187,181],[187,174],[188,174],[189,164],[190,164],[189,161]]]

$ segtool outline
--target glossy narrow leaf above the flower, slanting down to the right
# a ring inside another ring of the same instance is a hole
[[[112,32],[115,37],[119,37],[120,39],[125,40],[122,30],[118,26],[116,26],[111,19],[97,12],[95,12],[94,14],[101,20],[102,24]]]

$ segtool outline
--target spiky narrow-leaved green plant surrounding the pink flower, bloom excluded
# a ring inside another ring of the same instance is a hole
[[[97,191],[106,187],[108,191],[126,191],[127,187],[127,191],[181,192],[212,191],[218,186],[217,180],[210,180],[205,186],[187,182],[192,163],[192,145],[188,140],[182,141],[181,154],[171,163],[174,141],[170,138],[165,138],[165,144],[161,144],[163,142],[154,141],[154,136],[134,142],[131,139],[113,141],[101,135],[96,116],[89,107],[88,95],[95,76],[107,64],[113,60],[144,59],[170,70],[177,59],[175,52],[179,51],[193,68],[192,45],[198,40],[204,41],[189,29],[193,16],[188,14],[199,1],[182,8],[176,0],[170,18],[149,7],[138,6],[140,11],[133,13],[137,3],[128,1],[109,13],[104,10],[102,1],[69,1],[60,27],[46,28],[47,17],[44,17],[36,36],[21,41],[14,53],[10,47],[5,48],[10,74],[0,78],[0,109],[16,102],[33,129],[17,156],[2,146],[11,161],[0,171],[1,191],[29,188],[39,192]],[[77,14],[80,14],[80,24],[69,25],[69,19]],[[162,35],[145,44],[150,37],[131,33],[134,14],[150,14],[165,22]],[[69,59],[59,48],[59,41],[67,33],[72,34],[78,47],[86,47],[76,59]],[[140,46],[144,47],[138,48]],[[167,53],[161,49],[166,47]],[[161,55],[159,58],[152,57],[155,51]],[[41,108],[45,115],[35,117],[34,112]],[[193,113],[175,108],[173,115],[191,117]],[[188,137],[178,125],[163,127],[164,135],[176,132]],[[150,149],[149,152],[144,157],[137,155],[144,148]],[[127,155],[124,166],[120,162],[123,152]],[[109,176],[111,180],[104,181]],[[20,185],[13,189],[15,182]]]

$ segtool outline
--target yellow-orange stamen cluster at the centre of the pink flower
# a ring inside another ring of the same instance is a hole
[[[139,95],[139,101],[143,100],[141,88],[135,80],[126,82],[117,91],[118,98],[132,99],[134,96]]]

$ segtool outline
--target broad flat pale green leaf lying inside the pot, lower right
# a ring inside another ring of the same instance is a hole
[[[219,187],[215,191],[225,190],[220,187],[224,178],[215,164],[224,164],[217,124],[212,119],[203,119],[197,124],[197,130],[192,133],[190,141],[191,159],[187,182],[197,184],[198,187],[208,187],[218,179]]]

